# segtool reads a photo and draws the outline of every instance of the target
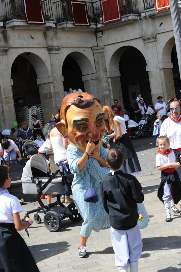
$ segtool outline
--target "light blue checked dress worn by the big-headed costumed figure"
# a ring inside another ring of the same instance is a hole
[[[82,223],[80,235],[89,237],[91,231],[99,232],[101,229],[110,228],[108,215],[103,207],[101,194],[100,194],[100,181],[108,175],[109,168],[101,167],[99,162],[94,158],[87,160],[85,167],[79,171],[78,160],[82,157],[83,153],[79,151],[72,144],[67,148],[67,160],[71,173],[74,174],[72,183],[73,199],[79,210],[84,222]],[[99,155],[106,160],[107,152],[105,148],[100,145]],[[89,189],[89,163],[92,188],[95,190],[99,201],[90,203],[84,201],[84,195]]]

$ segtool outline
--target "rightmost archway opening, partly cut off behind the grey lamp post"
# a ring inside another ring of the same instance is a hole
[[[178,99],[181,99],[181,81],[174,37],[170,38],[163,47],[162,62],[170,63],[170,67],[173,65],[172,69],[167,69],[167,74],[165,76],[166,84],[170,86],[174,85],[175,89],[175,93],[172,90],[172,95],[168,96],[168,98],[170,99],[173,98],[173,96],[176,96]]]

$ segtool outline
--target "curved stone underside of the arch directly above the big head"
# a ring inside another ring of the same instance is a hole
[[[76,60],[76,62],[79,64],[79,67],[82,71],[82,76],[95,73],[92,63],[90,62],[89,58],[83,53],[75,51],[75,52],[69,53],[67,56],[70,56],[74,60]]]

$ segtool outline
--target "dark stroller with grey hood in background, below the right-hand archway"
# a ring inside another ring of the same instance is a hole
[[[149,116],[143,116],[142,119],[137,124],[133,120],[128,121],[127,133],[130,135],[131,140],[135,140],[138,136],[139,138],[149,138],[151,128],[148,126]]]

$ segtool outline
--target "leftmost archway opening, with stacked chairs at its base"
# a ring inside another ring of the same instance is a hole
[[[19,120],[18,108],[23,106],[32,107],[41,104],[44,121],[49,120],[53,112],[52,87],[44,61],[31,52],[18,55],[11,66],[11,79],[19,125],[22,120]]]

